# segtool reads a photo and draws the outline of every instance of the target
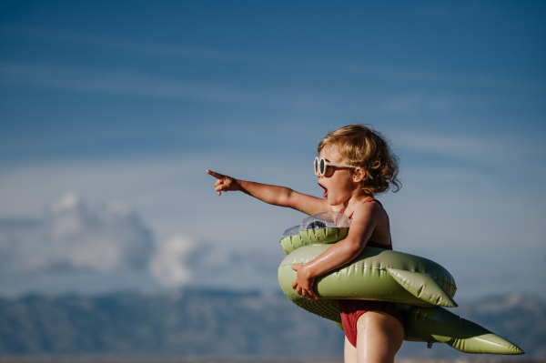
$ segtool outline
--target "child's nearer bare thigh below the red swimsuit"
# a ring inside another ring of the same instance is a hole
[[[350,343],[345,339],[347,352]],[[393,363],[403,341],[404,328],[397,318],[382,311],[368,311],[357,322],[357,362]]]

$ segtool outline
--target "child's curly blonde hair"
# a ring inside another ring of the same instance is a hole
[[[370,196],[389,189],[396,193],[402,187],[398,178],[398,157],[390,151],[385,137],[373,128],[354,124],[330,131],[320,141],[319,153],[325,147],[334,147],[345,164],[359,166],[366,171],[360,184]],[[355,169],[349,168],[349,173],[354,175]]]

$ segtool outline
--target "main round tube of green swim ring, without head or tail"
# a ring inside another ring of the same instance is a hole
[[[292,289],[291,283],[297,275],[292,265],[307,264],[329,247],[328,244],[300,247],[280,263],[280,287],[296,305],[306,304],[308,299]],[[350,264],[317,277],[315,284],[314,290],[322,299],[353,298],[424,307],[457,307],[452,299],[457,290],[455,280],[445,268],[427,258],[382,248],[366,247]]]

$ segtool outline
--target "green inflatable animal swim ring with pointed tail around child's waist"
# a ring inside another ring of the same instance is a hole
[[[343,229],[343,230],[341,230]],[[299,308],[332,320],[339,328],[339,299],[367,299],[397,303],[404,317],[404,339],[446,343],[465,353],[524,354],[521,348],[478,324],[445,308],[457,307],[452,297],[457,287],[450,273],[427,258],[375,247],[366,247],[348,265],[317,277],[313,287],[318,299],[298,296],[292,289],[294,264],[306,264],[326,251],[331,243],[347,237],[349,228],[302,230],[284,237],[280,245],[288,254],[278,267],[278,282]]]

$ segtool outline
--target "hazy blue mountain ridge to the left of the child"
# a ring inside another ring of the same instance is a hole
[[[4,354],[292,355],[303,345],[331,355],[342,341],[339,328],[280,295],[186,291],[0,302]]]

